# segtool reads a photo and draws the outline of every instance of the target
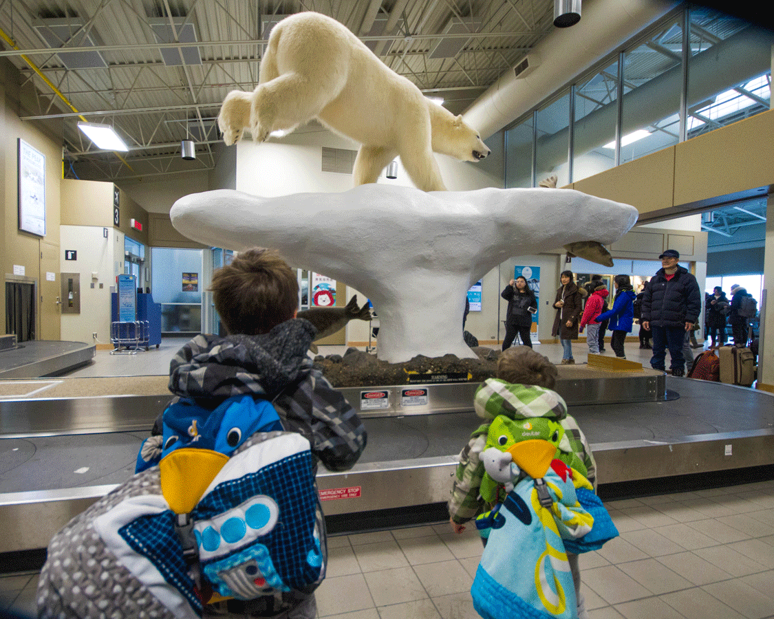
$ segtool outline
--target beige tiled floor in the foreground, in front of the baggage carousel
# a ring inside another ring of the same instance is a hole
[[[607,507],[621,536],[580,557],[593,619],[774,617],[774,480]],[[481,542],[471,528],[343,535],[328,548],[320,617],[478,617],[469,592]],[[36,573],[0,577],[0,608],[33,612],[36,585]]]

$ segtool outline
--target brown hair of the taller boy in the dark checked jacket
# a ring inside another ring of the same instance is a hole
[[[296,273],[272,249],[241,251],[212,276],[215,309],[228,333],[269,333],[298,309]]]

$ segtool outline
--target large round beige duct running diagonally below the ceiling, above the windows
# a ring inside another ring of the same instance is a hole
[[[533,72],[517,78],[512,70],[506,71],[467,108],[464,121],[477,128],[481,138],[488,138],[677,5],[652,0],[586,0],[584,17],[577,25],[557,29],[534,47],[540,63]]]

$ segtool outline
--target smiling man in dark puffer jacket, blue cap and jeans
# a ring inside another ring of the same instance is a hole
[[[683,339],[701,313],[701,292],[694,275],[677,264],[680,253],[667,249],[659,256],[662,268],[652,277],[642,297],[642,327],[653,333],[650,365],[664,370],[670,349],[673,376],[685,375]]]

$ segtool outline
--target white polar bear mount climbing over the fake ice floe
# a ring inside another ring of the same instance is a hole
[[[272,29],[258,87],[229,93],[217,124],[231,145],[245,128],[263,142],[272,131],[292,131],[312,118],[361,143],[355,185],[375,183],[400,156],[419,189],[445,190],[433,151],[461,161],[490,152],[461,116],[424,97],[341,23],[303,12]]]

